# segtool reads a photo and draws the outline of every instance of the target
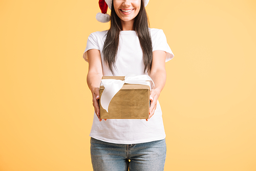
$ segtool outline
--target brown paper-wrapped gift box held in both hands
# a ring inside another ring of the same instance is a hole
[[[124,76],[103,76],[102,79],[120,79]],[[99,99],[104,90],[100,86]],[[100,103],[100,100],[99,100]],[[100,119],[148,119],[150,109],[150,87],[141,84],[124,83],[112,98],[109,113],[99,104]]]

